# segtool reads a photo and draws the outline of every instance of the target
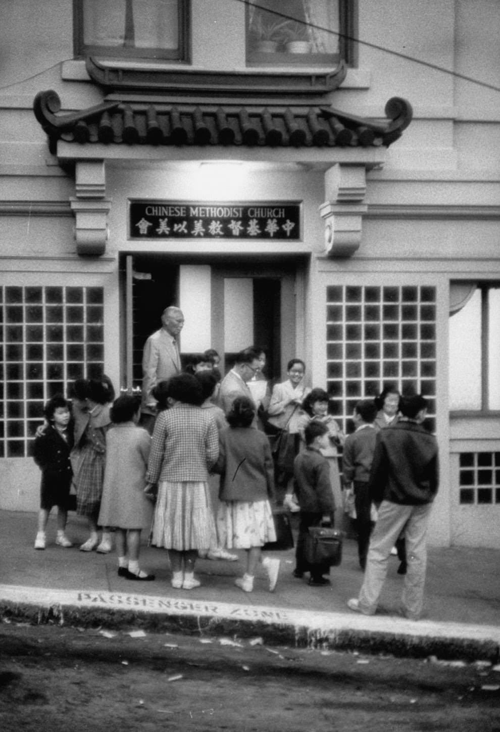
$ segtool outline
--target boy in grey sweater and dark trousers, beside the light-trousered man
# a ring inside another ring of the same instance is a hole
[[[371,519],[371,498],[368,481],[375,450],[376,429],[373,425],[377,407],[373,399],[360,400],[352,416],[356,431],[346,437],[342,455],[343,480],[352,484],[356,507],[359,566],[365,569],[368,543],[374,522]]]

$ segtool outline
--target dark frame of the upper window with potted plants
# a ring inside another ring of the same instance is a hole
[[[331,66],[345,61],[348,67],[357,65],[357,29],[358,29],[358,0],[339,1],[339,51],[338,53],[307,53],[294,54],[276,51],[259,53],[252,51],[248,34],[248,14],[250,7],[245,7],[245,59],[247,67],[274,67],[274,66]]]

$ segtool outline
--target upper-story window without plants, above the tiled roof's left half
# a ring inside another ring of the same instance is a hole
[[[74,0],[78,56],[187,57],[188,0]]]

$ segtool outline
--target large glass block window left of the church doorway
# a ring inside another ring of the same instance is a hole
[[[0,458],[31,455],[45,401],[104,367],[102,287],[0,287]]]

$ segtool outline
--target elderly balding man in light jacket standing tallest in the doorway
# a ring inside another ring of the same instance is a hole
[[[183,325],[182,310],[173,305],[166,307],[162,315],[162,327],[152,333],[144,345],[141,425],[150,434],[156,419],[156,400],[152,390],[160,381],[165,381],[181,371],[177,339]]]

